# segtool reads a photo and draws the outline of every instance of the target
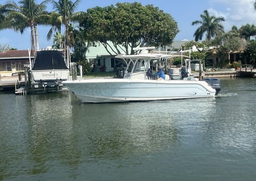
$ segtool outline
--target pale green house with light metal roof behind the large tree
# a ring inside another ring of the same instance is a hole
[[[115,50],[112,42],[108,41],[108,44]],[[124,49],[124,47],[122,48]],[[116,64],[120,63],[119,60],[115,59],[116,53],[111,48],[108,48],[108,50],[112,55],[109,54],[101,43],[96,47],[92,46],[88,49],[86,59],[93,65],[95,72],[113,72]],[[131,51],[131,48],[129,51]],[[121,54],[125,54],[125,52],[121,51]]]

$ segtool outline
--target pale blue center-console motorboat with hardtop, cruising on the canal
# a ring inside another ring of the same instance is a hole
[[[116,56],[127,63],[123,79],[70,80],[63,84],[82,102],[88,103],[204,98],[218,94],[219,80],[208,80],[208,83],[198,78],[170,80],[169,75],[165,75],[164,80],[148,80],[146,71],[151,61],[165,63],[169,58],[182,56],[145,53],[146,49],[153,48],[140,48],[143,51],[138,55]]]

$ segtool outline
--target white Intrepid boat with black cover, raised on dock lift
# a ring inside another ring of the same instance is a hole
[[[25,83],[28,92],[40,92],[62,89],[62,81],[68,80],[69,68],[65,63],[62,50],[41,49],[35,51],[29,66],[25,67]]]

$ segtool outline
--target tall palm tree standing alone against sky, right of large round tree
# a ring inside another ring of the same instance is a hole
[[[224,32],[224,27],[221,24],[222,21],[225,21],[224,17],[210,16],[207,10],[204,10],[200,17],[201,20],[192,22],[192,26],[201,25],[194,33],[195,41],[202,40],[205,32],[207,40],[211,40],[211,37],[214,37],[219,32]]]

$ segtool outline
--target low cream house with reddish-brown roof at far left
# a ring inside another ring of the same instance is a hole
[[[31,52],[31,60],[34,53]],[[6,50],[0,53],[0,75],[12,76],[14,73],[24,70],[24,65],[29,64],[28,50]]]

